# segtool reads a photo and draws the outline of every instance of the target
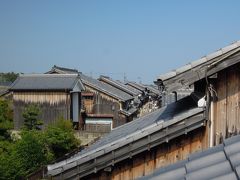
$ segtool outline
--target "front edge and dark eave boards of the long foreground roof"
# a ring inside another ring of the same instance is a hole
[[[84,177],[99,170],[114,166],[122,160],[150,150],[180,135],[205,126],[203,109],[193,109],[172,120],[157,121],[144,129],[122,139],[101,146],[90,152],[48,166],[49,176],[63,179]]]

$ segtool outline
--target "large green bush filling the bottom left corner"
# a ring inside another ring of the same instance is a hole
[[[23,131],[20,140],[8,145],[10,148],[0,154],[0,177],[3,179],[26,177],[53,159],[40,131]]]

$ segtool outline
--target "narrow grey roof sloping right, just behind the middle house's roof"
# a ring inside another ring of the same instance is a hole
[[[105,77],[105,76],[100,76],[99,80],[102,82],[105,82],[115,88],[118,88],[128,94],[130,94],[131,96],[137,96],[139,94],[141,94],[141,91],[137,91],[136,89],[133,88],[129,88],[128,86],[126,86],[125,84],[119,82],[119,81],[114,81],[113,79],[109,78],[109,77]]]

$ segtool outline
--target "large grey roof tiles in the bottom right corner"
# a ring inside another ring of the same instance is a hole
[[[155,170],[141,180],[240,179],[240,135],[223,144],[190,155],[186,160]]]

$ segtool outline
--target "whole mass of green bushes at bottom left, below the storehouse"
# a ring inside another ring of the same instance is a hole
[[[22,130],[20,136],[16,142],[0,140],[0,180],[24,179],[80,144],[72,123],[63,118],[44,131]]]

